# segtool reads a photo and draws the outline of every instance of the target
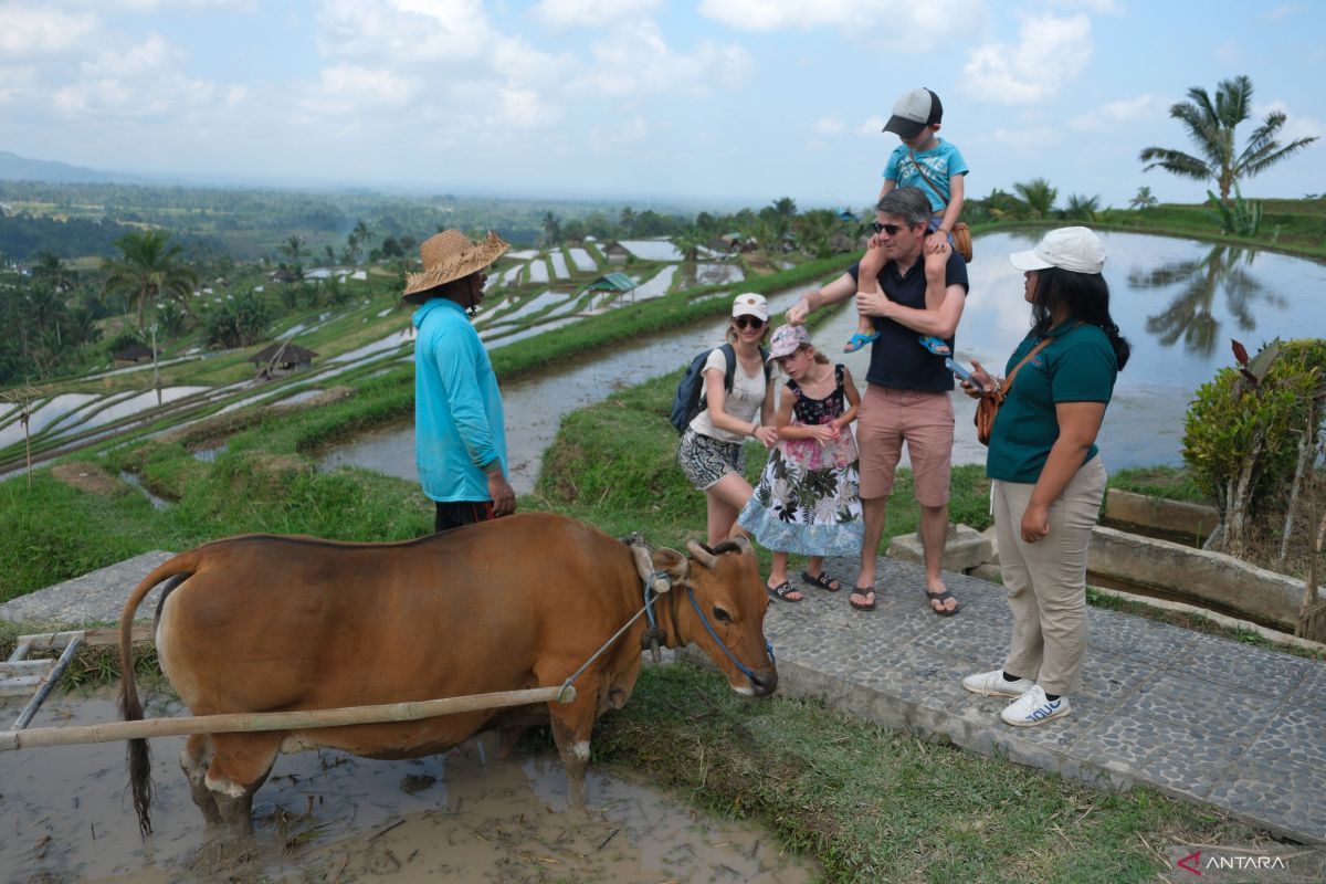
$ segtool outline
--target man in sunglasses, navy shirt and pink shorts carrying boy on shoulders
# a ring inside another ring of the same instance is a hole
[[[916,346],[916,335],[935,335],[953,346],[967,301],[967,264],[947,241],[926,250],[931,204],[919,188],[891,191],[875,208],[875,235],[862,261],[829,285],[804,294],[788,310],[788,322],[804,322],[812,311],[857,296],[858,313],[873,318],[878,334],[857,419],[865,537],[861,575],[849,602],[859,610],[875,607],[875,558],[884,509],[907,443],[920,506],[926,594],[931,611],[952,616],[959,604],[944,586],[940,566],[948,537],[953,376],[941,359]],[[862,270],[865,280],[858,285]]]

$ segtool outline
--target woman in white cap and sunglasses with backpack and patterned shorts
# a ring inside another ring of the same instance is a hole
[[[708,541],[725,541],[737,514],[751,500],[745,478],[745,440],[765,448],[778,441],[773,425],[773,380],[761,345],[769,337],[769,302],[761,294],[739,294],[732,302],[727,341],[736,358],[732,390],[727,388],[728,355],[715,347],[704,363],[704,408],[682,433],[676,452],[682,472],[704,492]]]

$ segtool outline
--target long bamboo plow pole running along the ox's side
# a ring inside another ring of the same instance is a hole
[[[369,725],[389,721],[419,721],[420,718],[479,712],[481,709],[525,706],[536,702],[572,702],[574,700],[575,688],[573,685],[560,685],[556,688],[476,693],[464,697],[444,697],[442,700],[389,702],[377,706],[300,709],[296,712],[235,712],[220,716],[109,721],[99,725],[4,730],[0,732],[0,751],[30,749],[34,746],[72,746],[88,742],[142,740],[147,737],[247,733],[255,730],[302,730],[308,728],[341,728],[345,725]]]

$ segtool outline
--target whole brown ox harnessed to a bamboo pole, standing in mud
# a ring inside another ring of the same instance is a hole
[[[733,691],[770,693],[778,676],[764,639],[769,600],[751,545],[688,547],[693,559],[668,549],[654,553],[654,567],[667,571],[674,586],[654,606],[664,644],[695,643]],[[548,513],[402,543],[271,534],[220,539],[163,563],[129,596],[121,619],[126,721],[142,717],[130,626],[143,596],[167,578],[172,580],[156,610],[156,652],[195,716],[556,687],[643,604],[630,547]],[[280,751],[330,746],[369,758],[414,758],[444,751],[484,729],[503,730],[509,745],[518,728],[550,720],[570,802],[582,806],[590,730],[602,712],[630,696],[644,627],[644,618],[638,619],[575,677],[577,696],[569,704],[194,736],[180,765],[207,822],[247,832],[253,793]],[[129,755],[134,807],[146,834],[151,831],[146,741],[130,741]]]

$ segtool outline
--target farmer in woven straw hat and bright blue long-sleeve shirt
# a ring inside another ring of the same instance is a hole
[[[423,272],[402,296],[420,305],[415,337],[415,463],[444,531],[516,512],[507,433],[492,362],[469,323],[484,300],[484,268],[507,250],[496,233],[471,243],[443,231],[419,247]]]

